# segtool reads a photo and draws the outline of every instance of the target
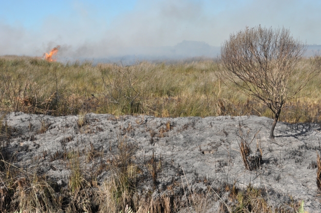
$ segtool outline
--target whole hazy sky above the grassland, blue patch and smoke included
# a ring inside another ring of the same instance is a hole
[[[154,54],[182,41],[221,46],[246,27],[290,29],[321,45],[319,0],[0,0],[0,55]]]

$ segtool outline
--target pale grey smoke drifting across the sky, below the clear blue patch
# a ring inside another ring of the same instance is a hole
[[[319,8],[321,2],[312,0],[140,0],[134,10],[107,22],[86,5],[78,5],[74,16],[48,16],[39,29],[0,20],[0,55],[42,56],[60,45],[57,56],[61,59],[213,56],[217,54],[214,47],[230,33],[259,24],[289,28],[295,38],[321,44]]]

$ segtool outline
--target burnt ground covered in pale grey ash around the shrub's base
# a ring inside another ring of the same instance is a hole
[[[148,193],[156,199],[181,193],[183,197],[186,191],[206,194],[209,186],[219,188],[222,183],[239,189],[250,184],[262,189],[273,208],[304,200],[305,210],[321,212],[316,185],[319,124],[279,122],[271,140],[273,121],[256,116],[155,118],[89,113],[50,117],[12,112],[5,122],[13,129],[6,143],[13,164],[46,175],[59,187],[67,187],[70,180],[72,153],[78,153],[83,175],[95,178],[99,187],[111,175],[108,164],[120,159],[122,142],[130,161],[139,168],[141,195]],[[253,139],[253,152],[260,146],[259,168],[245,168],[240,137]],[[230,202],[223,190],[220,195]],[[216,211],[219,201],[209,203],[207,211]]]

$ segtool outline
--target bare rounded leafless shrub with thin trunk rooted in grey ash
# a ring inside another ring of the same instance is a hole
[[[269,107],[274,114],[270,138],[285,102],[295,98],[320,71],[320,56],[297,71],[306,45],[290,35],[288,29],[247,28],[231,34],[221,48],[220,79],[236,84],[238,89]]]

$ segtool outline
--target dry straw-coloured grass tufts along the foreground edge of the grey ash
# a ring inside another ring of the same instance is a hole
[[[120,143],[125,142],[123,140]],[[188,183],[186,176],[182,177],[182,183],[174,182],[167,186],[167,189],[172,188],[172,190],[180,187],[184,189],[183,193],[155,198],[152,192],[141,195],[137,184],[143,183],[146,186],[148,182],[155,184],[154,178],[157,179],[157,176],[153,176],[153,171],[150,171],[153,170],[153,165],[136,164],[135,156],[128,155],[131,147],[125,144],[120,146],[118,148],[123,150],[121,152],[118,150],[109,166],[105,168],[111,173],[110,178],[99,185],[92,177],[84,175],[85,172],[80,165],[80,152],[68,153],[71,174],[67,187],[61,188],[57,188],[55,183],[45,177],[30,175],[2,161],[6,166],[2,171],[6,172],[1,173],[0,195],[3,198],[1,211],[119,213],[127,212],[130,207],[135,213],[201,213],[206,212],[211,204],[218,200],[221,203],[219,212],[295,212],[299,208],[299,203],[292,201],[290,204],[273,209],[267,204],[265,190],[253,188],[251,185],[242,190],[235,183],[230,185],[209,182],[207,192],[192,191],[191,183]],[[156,162],[155,156],[147,162]],[[143,167],[149,170],[149,176],[141,174]],[[228,196],[223,198],[225,192],[228,192]]]

